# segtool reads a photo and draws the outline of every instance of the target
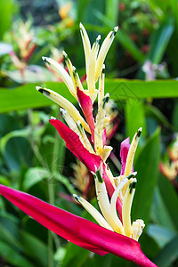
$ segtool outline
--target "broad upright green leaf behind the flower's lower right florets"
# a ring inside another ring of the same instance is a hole
[[[137,171],[137,185],[132,208],[133,220],[142,219],[146,224],[150,220],[150,206],[153,191],[158,178],[160,156],[159,129],[150,137],[134,163]]]

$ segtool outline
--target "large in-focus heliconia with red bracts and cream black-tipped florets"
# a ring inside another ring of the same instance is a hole
[[[121,143],[122,168],[119,176],[114,177],[106,163],[112,147],[105,145],[106,127],[110,117],[107,112],[109,93],[104,94],[105,66],[103,62],[117,33],[117,27],[109,32],[101,44],[100,51],[101,36],[96,38],[91,47],[89,37],[82,24],[80,24],[80,30],[85,50],[87,89],[83,87],[77,70],[66,53],[63,55],[69,73],[53,59],[44,57],[43,60],[63,79],[69,92],[79,102],[85,118],[71,102],[60,94],[44,87],[36,87],[36,89],[61,106],[61,113],[69,126],[54,117],[50,119],[50,123],[66,142],[68,149],[93,174],[101,213],[85,198],[77,195],[74,195],[74,198],[92,214],[99,225],[3,185],[0,185],[0,193],[38,223],[80,247],[99,255],[112,253],[140,266],[156,266],[143,255],[137,241],[142,234],[143,221],[138,219],[131,222],[131,206],[137,182],[135,178],[137,173],[133,169],[134,154],[142,128],[134,135],[131,145],[129,138]],[[99,88],[97,89],[98,80]],[[98,112],[94,118],[93,102],[97,97]],[[92,142],[89,141],[88,134],[91,134]]]

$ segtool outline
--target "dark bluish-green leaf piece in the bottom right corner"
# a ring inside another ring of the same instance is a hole
[[[158,254],[155,261],[158,266],[169,267],[178,258],[178,236],[171,240]]]

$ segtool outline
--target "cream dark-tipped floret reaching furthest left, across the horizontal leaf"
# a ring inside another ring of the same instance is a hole
[[[83,127],[85,128],[85,131],[91,134],[90,128],[85,122],[84,118],[80,115],[79,111],[75,108],[75,106],[72,103],[70,103],[66,98],[61,96],[61,94],[55,93],[52,90],[44,87],[36,86],[36,90],[39,91],[40,93],[43,93],[46,97],[59,104],[63,109],[66,109],[69,112],[69,115],[73,117],[75,122],[79,120],[83,125]]]

